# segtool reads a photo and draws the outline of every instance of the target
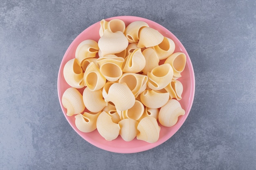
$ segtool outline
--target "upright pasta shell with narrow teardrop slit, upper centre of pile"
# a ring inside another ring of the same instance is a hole
[[[141,49],[135,49],[125,58],[125,64],[123,66],[123,72],[125,73],[138,73],[146,65],[146,60],[141,52]]]

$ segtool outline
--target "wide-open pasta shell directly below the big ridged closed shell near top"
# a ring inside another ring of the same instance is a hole
[[[122,64],[124,63],[124,58],[116,57],[116,58],[105,58],[101,57],[97,60],[100,68],[101,74],[110,82],[117,81],[122,72]]]

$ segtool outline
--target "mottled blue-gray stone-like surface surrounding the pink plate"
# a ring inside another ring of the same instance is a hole
[[[103,18],[135,15],[180,39],[195,71],[189,117],[148,151],[92,146],[66,121],[62,57]],[[256,170],[255,0],[1,0],[1,170]]]

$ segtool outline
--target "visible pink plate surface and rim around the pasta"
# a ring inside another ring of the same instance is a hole
[[[80,42],[83,40],[95,40],[98,42],[100,36],[99,36],[99,28],[100,23],[97,22],[93,24],[92,26],[85,29],[82,33],[80,33],[74,41],[70,44],[68,47],[63,60],[61,62],[61,66],[58,73],[58,97],[61,104],[61,108],[63,110],[64,116],[66,117],[67,121],[69,122],[70,126],[86,141],[88,141],[90,144],[97,146],[98,148],[101,148],[103,150],[108,150],[110,152],[118,152],[118,153],[135,153],[135,152],[141,152],[145,150],[149,150],[151,148],[154,148],[156,146],[159,146],[160,144],[164,143],[166,140],[168,140],[170,137],[172,137],[177,130],[182,126],[184,121],[189,115],[189,111],[191,110],[191,106],[194,99],[195,94],[195,76],[193,72],[193,66],[191,63],[191,60],[189,58],[188,53],[186,52],[186,49],[182,45],[182,43],[173,35],[170,31],[168,31],[163,26],[157,24],[156,22],[153,22],[151,20],[145,19],[145,18],[139,18],[135,16],[118,16],[113,18],[108,18],[105,20],[111,20],[111,19],[121,19],[125,22],[126,26],[136,20],[141,20],[153,28],[157,29],[162,35],[165,37],[171,38],[175,42],[175,51],[174,52],[183,52],[186,54],[187,62],[186,67],[184,71],[182,72],[182,77],[180,77],[178,80],[182,82],[184,91],[182,93],[182,99],[179,101],[182,108],[185,110],[185,115],[180,116],[178,119],[177,124],[175,124],[172,127],[164,127],[161,126],[159,140],[155,142],[154,144],[147,143],[145,141],[137,140],[136,138],[133,139],[130,142],[124,141],[120,135],[117,137],[117,139],[113,141],[106,141],[101,135],[99,135],[99,132],[97,130],[94,130],[90,133],[84,133],[79,131],[75,126],[75,118],[74,116],[69,117],[66,115],[67,110],[63,107],[61,103],[61,97],[64,93],[64,91],[69,88],[70,86],[65,82],[64,76],[63,76],[63,68],[67,61],[71,60],[75,57],[75,51],[76,47],[79,45]],[[79,91],[82,93],[83,89],[79,89]]]

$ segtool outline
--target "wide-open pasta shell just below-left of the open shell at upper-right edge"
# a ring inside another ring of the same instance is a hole
[[[162,64],[148,72],[148,87],[160,90],[166,87],[173,78],[173,68],[170,64]]]

